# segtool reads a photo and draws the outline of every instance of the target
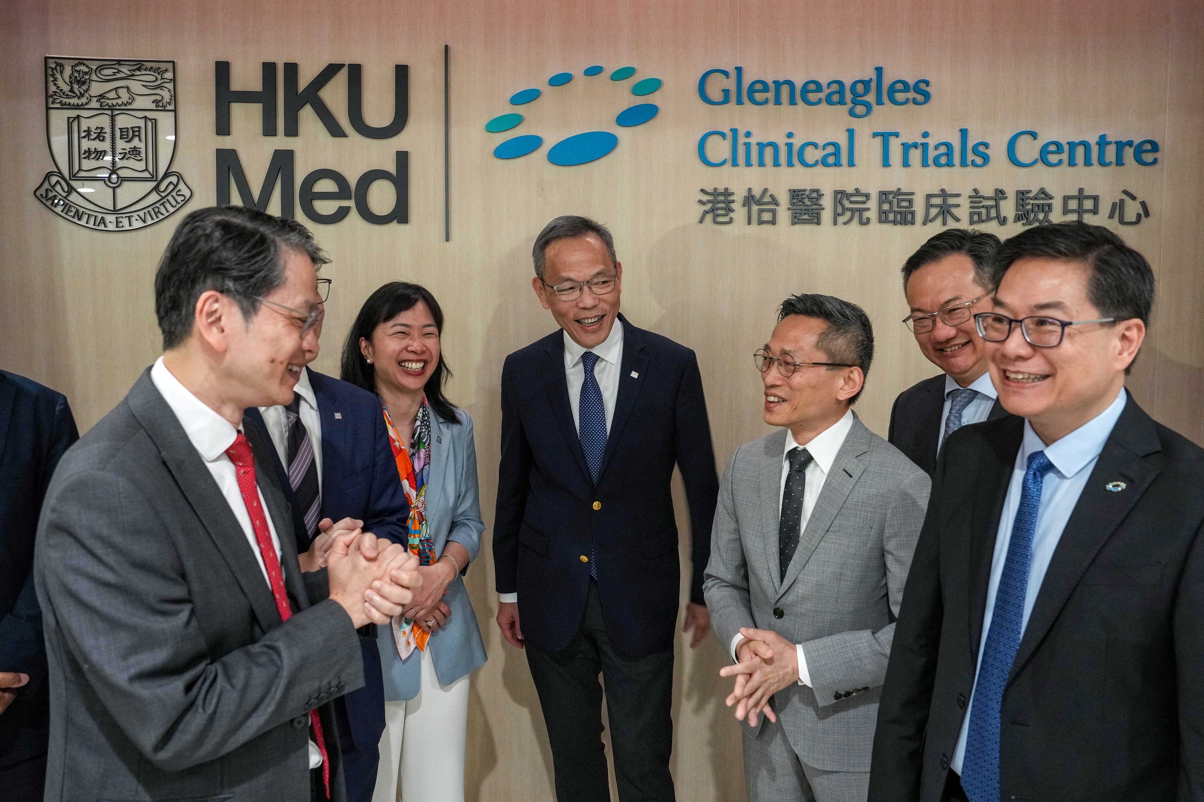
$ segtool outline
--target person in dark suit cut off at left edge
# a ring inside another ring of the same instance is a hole
[[[0,371],[0,788],[41,800],[49,732],[34,535],[51,474],[79,440],[66,396]]]

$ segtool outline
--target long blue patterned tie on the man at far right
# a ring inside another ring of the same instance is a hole
[[[1011,524],[1008,556],[1003,561],[991,630],[982,644],[982,665],[970,704],[970,726],[962,761],[962,788],[970,802],[999,802],[999,708],[1016,649],[1020,648],[1037,509],[1041,503],[1045,474],[1052,467],[1045,452],[1028,455],[1020,507]]]

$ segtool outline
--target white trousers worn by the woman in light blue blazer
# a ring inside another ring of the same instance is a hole
[[[441,685],[427,649],[423,679],[408,702],[384,703],[380,767],[372,802],[464,802],[468,677]]]

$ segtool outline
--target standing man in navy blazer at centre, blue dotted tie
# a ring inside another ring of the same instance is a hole
[[[507,641],[529,647],[562,802],[672,800],[681,470],[694,541],[685,629],[710,629],[702,574],[719,478],[694,352],[619,314],[610,232],[559,217],[536,238],[536,295],[561,330],[506,358],[494,565]]]

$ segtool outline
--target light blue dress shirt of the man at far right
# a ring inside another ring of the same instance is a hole
[[[978,685],[978,672],[982,667],[982,644],[991,631],[991,615],[995,613],[995,596],[999,590],[999,577],[1003,574],[1003,562],[1008,556],[1008,543],[1011,541],[1011,525],[1020,507],[1020,494],[1023,489],[1025,468],[1028,455],[1044,450],[1054,464],[1054,470],[1045,474],[1041,484],[1041,502],[1037,508],[1037,525],[1033,529],[1033,556],[1028,565],[1028,590],[1025,594],[1025,614],[1020,620],[1020,636],[1023,637],[1037,603],[1037,592],[1045,579],[1045,572],[1054,559],[1054,550],[1062,539],[1062,530],[1070,520],[1070,513],[1079,503],[1079,496],[1091,478],[1099,453],[1104,450],[1108,436],[1112,434],[1116,420],[1125,409],[1128,394],[1122,388],[1116,400],[1102,413],[1079,426],[1069,435],[1049,446],[1033,431],[1032,424],[1025,421],[1025,438],[1016,454],[1016,464],[1011,470],[1011,482],[1003,501],[1003,513],[999,515],[999,530],[995,538],[995,556],[991,558],[991,583],[986,590],[986,611],[982,614],[982,637],[979,641],[978,665],[974,668],[974,684]],[[962,773],[962,759],[966,756],[966,737],[969,732],[970,710],[974,708],[974,694],[966,707],[962,719],[962,732],[957,736],[957,748],[949,767]]]

